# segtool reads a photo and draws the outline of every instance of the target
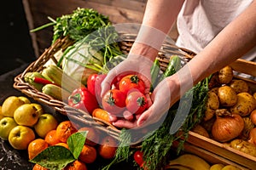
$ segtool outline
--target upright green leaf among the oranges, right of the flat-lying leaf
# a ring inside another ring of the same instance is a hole
[[[67,145],[69,150],[73,153],[73,157],[75,159],[79,158],[79,155],[83,149],[85,139],[87,136],[88,131],[82,131],[79,133],[73,133],[68,139],[67,139]]]

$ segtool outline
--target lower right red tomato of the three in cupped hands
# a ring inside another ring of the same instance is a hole
[[[133,114],[141,114],[148,107],[146,96],[138,90],[127,95],[125,105],[127,110]]]

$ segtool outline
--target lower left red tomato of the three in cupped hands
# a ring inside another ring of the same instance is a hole
[[[125,94],[119,89],[110,89],[102,98],[102,107],[111,114],[118,115],[125,110]]]

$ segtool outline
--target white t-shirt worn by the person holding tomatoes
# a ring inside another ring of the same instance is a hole
[[[188,0],[177,16],[177,46],[198,53],[253,0]],[[232,40],[230,40],[232,41]],[[256,61],[256,47],[242,57]]]

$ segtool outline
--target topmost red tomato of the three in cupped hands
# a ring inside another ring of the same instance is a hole
[[[144,94],[145,84],[137,75],[127,75],[119,82],[119,90],[127,94],[131,89],[138,89]]]

